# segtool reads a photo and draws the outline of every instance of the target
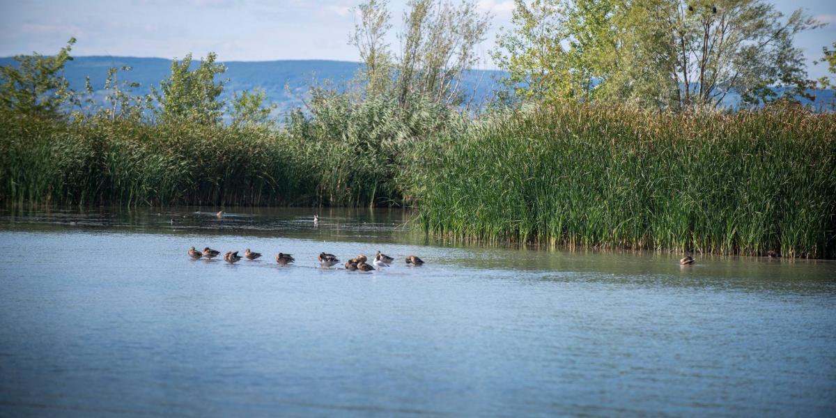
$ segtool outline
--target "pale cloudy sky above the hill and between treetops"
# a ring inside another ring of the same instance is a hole
[[[348,44],[354,28],[351,8],[360,0],[0,0],[0,56],[54,54],[71,36],[74,56],[196,57],[214,51],[220,61],[337,59],[357,61]],[[836,1],[774,0],[785,14],[797,8],[823,23],[797,36],[808,58],[808,75],[827,74],[813,66],[822,47],[836,42]],[[391,0],[395,29],[406,0]],[[488,54],[497,32],[510,26],[512,0],[479,0],[492,13],[492,29],[478,50],[480,68],[492,69]],[[394,30],[393,30],[394,33]],[[393,49],[399,48],[394,34]]]

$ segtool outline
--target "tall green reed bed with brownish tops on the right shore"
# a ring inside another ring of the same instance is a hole
[[[833,257],[834,133],[800,111],[492,118],[416,173],[419,220],[477,241]]]

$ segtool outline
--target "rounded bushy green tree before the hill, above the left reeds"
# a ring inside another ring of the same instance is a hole
[[[201,59],[196,69],[191,69],[191,54],[178,62],[171,62],[171,75],[160,82],[160,89],[152,89],[159,103],[156,115],[163,121],[191,120],[204,125],[221,122],[225,101],[218,99],[223,93],[224,80],[215,82],[215,76],[227,68],[216,64],[217,55],[209,53]]]

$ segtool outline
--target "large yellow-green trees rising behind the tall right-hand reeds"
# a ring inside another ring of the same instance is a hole
[[[606,99],[716,109],[809,87],[794,35],[818,27],[765,0],[517,0],[494,59],[520,99]]]

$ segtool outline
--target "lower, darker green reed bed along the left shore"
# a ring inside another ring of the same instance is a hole
[[[7,202],[287,205],[313,201],[308,166],[264,128],[3,115]]]

